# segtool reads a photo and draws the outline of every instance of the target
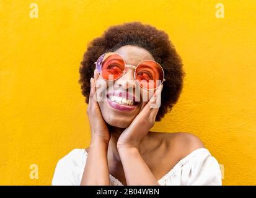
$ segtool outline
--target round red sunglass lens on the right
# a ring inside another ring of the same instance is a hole
[[[154,61],[143,61],[136,68],[136,80],[143,88],[157,88],[164,80],[162,67]]]

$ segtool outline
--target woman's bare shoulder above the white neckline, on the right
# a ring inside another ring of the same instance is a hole
[[[165,145],[164,153],[175,155],[178,159],[186,157],[196,149],[205,148],[199,137],[188,132],[154,132],[152,136],[161,139],[161,144]]]

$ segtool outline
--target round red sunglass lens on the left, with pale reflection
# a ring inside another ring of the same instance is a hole
[[[123,74],[125,61],[117,53],[106,53],[102,58],[99,69],[101,70],[98,71],[99,74],[102,74],[105,80],[115,80]]]

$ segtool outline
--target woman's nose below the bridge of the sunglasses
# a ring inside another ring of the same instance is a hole
[[[136,88],[136,82],[134,78],[135,69],[127,68],[125,74],[115,81],[114,86],[126,90],[128,88]]]

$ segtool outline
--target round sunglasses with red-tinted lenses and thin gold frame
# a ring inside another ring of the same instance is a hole
[[[146,90],[156,89],[166,80],[164,70],[156,61],[146,60],[139,62],[137,66],[125,63],[125,59],[115,52],[102,54],[96,62],[98,75],[102,74],[104,80],[117,80],[125,74],[126,67],[135,69],[136,83]]]

